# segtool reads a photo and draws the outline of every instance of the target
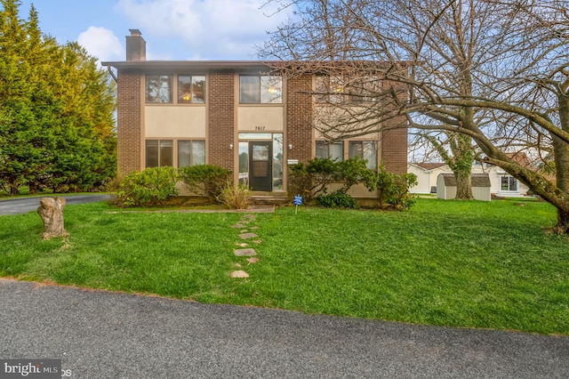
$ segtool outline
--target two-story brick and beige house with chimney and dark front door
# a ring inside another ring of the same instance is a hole
[[[319,136],[312,125],[330,105],[309,93],[322,76],[281,77],[260,61],[146,60],[137,29],[126,36],[126,60],[102,65],[117,83],[121,176],[159,165],[220,165],[254,191],[275,193],[287,190],[287,165],[314,157],[359,156],[371,168],[406,171],[405,128],[349,140]]]

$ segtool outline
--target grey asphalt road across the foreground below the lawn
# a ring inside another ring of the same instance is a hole
[[[421,327],[0,279],[0,359],[69,378],[565,378],[569,337]]]

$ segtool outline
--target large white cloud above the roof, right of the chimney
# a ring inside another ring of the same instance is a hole
[[[246,58],[254,45],[267,37],[287,16],[286,12],[261,9],[266,0],[119,0],[116,10],[123,12],[140,28],[147,40],[180,40],[186,56],[212,59]],[[165,46],[147,45],[148,56]],[[158,53],[159,54],[159,53]],[[158,55],[156,54],[156,55]]]

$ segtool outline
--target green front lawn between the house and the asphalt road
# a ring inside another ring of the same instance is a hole
[[[569,335],[569,241],[545,203],[419,199],[410,212],[279,208],[233,249],[243,214],[67,206],[68,240],[0,216],[0,276],[370,319]],[[232,279],[236,263],[250,278]]]

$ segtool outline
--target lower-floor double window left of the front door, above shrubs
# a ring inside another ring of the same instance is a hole
[[[174,151],[175,147],[175,151]],[[176,157],[174,162],[174,157]],[[205,141],[147,140],[146,167],[205,164]]]

